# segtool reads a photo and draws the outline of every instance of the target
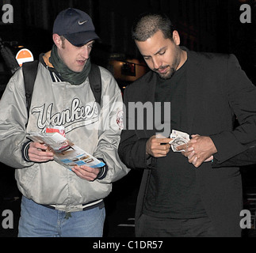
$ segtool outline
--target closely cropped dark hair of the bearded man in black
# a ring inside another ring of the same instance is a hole
[[[165,39],[173,40],[174,25],[164,13],[143,13],[132,25],[132,39],[146,41],[162,31]]]

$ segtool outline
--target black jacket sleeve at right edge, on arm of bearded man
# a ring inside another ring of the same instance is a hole
[[[256,87],[239,66],[235,55],[227,59],[224,89],[231,110],[239,120],[235,130],[224,131],[210,136],[218,153],[215,157],[221,162],[246,150],[246,145],[256,140]]]

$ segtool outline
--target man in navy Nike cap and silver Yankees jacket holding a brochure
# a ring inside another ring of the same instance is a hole
[[[104,198],[112,182],[128,173],[117,154],[122,97],[117,82],[99,67],[101,102],[90,88],[90,51],[98,40],[87,13],[65,9],[55,19],[52,51],[40,55],[29,113],[22,68],[10,79],[0,101],[0,161],[17,168],[22,193],[18,236],[102,236]],[[62,130],[105,165],[90,168],[73,161],[71,170],[54,160],[32,132]]]

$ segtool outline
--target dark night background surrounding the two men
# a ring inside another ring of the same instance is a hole
[[[90,14],[96,32],[101,37],[101,43],[96,43],[92,51],[92,60],[105,66],[115,76],[109,64],[113,60],[126,62],[128,59],[136,59],[143,64],[131,39],[131,26],[139,13],[154,10],[162,11],[170,17],[181,36],[182,45],[194,51],[235,54],[248,77],[256,83],[254,0],[6,0],[0,1],[0,17],[4,13],[1,13],[2,6],[6,3],[13,6],[13,24],[3,24],[0,18],[0,37],[10,46],[14,55],[18,45],[29,48],[35,59],[38,59],[40,53],[51,50],[52,25],[56,15],[68,7],[78,8]],[[242,4],[251,6],[252,21],[249,24],[240,22]],[[2,90],[9,78],[10,73],[0,56]],[[127,80],[120,78],[117,81],[120,87],[128,84]],[[5,230],[0,224],[0,236],[17,236],[20,203],[14,170],[4,164],[0,164],[0,169],[0,218],[2,210],[10,209],[15,214],[15,228]],[[256,192],[254,166],[242,168],[241,172],[245,196]],[[132,220],[128,219],[134,217],[140,176],[139,172],[131,172],[113,184],[113,193],[106,199],[105,236],[133,235]],[[246,196],[245,204],[248,203],[251,204]],[[127,224],[122,227],[118,226],[120,223]]]

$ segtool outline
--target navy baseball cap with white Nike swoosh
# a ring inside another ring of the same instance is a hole
[[[98,40],[90,16],[80,9],[64,9],[56,17],[53,33],[64,36],[71,44],[82,47],[91,40]]]

